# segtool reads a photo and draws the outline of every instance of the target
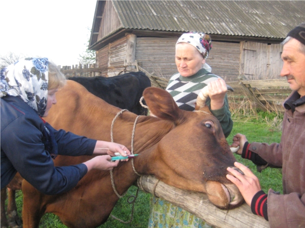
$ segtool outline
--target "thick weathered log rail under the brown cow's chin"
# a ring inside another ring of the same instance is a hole
[[[267,228],[269,223],[261,216],[251,212],[251,208],[247,204],[243,204],[232,210],[222,210],[211,204],[203,193],[196,193],[179,189],[162,181],[154,186],[158,179],[154,176],[141,176],[138,178],[138,186],[143,191],[155,194],[190,213],[202,218],[207,224],[213,227],[226,228]]]

